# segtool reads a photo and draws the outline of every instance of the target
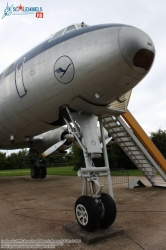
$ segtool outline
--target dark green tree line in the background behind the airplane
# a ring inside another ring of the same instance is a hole
[[[166,158],[166,130],[159,129],[157,132],[151,132],[150,138]],[[27,150],[22,150],[10,155],[0,152],[0,170],[29,168],[31,161],[28,159],[27,154]],[[111,147],[108,148],[108,159],[111,169],[136,168],[117,144],[112,144]],[[82,150],[76,145],[73,145],[70,153],[50,156],[44,159],[43,162],[49,167],[72,165],[75,170],[85,166]],[[104,166],[103,158],[94,159],[94,165]]]

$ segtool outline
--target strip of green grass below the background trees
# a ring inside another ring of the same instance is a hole
[[[77,176],[77,173],[73,170],[73,166],[69,167],[52,167],[47,168],[48,175],[64,175],[64,176]],[[112,176],[119,175],[120,171],[111,171]],[[121,172],[122,175],[129,176],[141,176],[143,175],[141,171],[134,170],[125,170]],[[11,169],[11,170],[0,170],[0,177],[3,176],[27,176],[30,175],[30,169]]]

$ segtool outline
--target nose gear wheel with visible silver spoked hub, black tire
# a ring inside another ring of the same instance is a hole
[[[93,197],[83,195],[76,200],[75,216],[81,228],[88,232],[100,227],[101,210]]]

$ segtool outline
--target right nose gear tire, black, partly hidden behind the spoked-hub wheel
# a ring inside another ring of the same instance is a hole
[[[104,206],[104,215],[101,219],[101,228],[111,226],[116,219],[116,204],[114,199],[107,193],[101,193],[101,202]]]

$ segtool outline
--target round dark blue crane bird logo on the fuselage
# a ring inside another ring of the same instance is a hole
[[[74,64],[70,57],[59,57],[54,65],[54,75],[56,79],[63,84],[67,84],[73,80],[74,73]]]

